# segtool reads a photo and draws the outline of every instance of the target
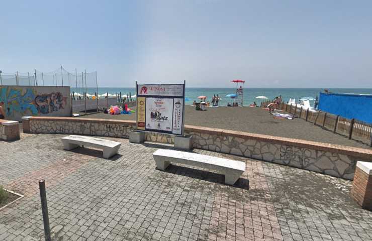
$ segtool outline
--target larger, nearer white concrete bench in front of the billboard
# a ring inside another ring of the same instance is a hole
[[[225,183],[233,185],[245,170],[245,163],[197,153],[159,149],[153,153],[156,167],[165,170],[172,163],[181,163],[214,170],[225,175]]]

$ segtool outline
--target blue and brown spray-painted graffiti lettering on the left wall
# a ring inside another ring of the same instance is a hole
[[[4,101],[7,118],[22,115],[44,115],[64,109],[67,97],[61,92],[38,94],[35,88],[1,87],[0,102]]]

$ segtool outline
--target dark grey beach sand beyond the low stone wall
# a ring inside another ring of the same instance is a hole
[[[119,115],[97,113],[81,117],[136,120],[135,113]],[[333,134],[300,118],[274,119],[267,110],[261,108],[207,107],[206,111],[197,111],[195,107],[188,105],[185,108],[185,124],[369,148],[366,140],[365,143],[348,140],[345,136]]]

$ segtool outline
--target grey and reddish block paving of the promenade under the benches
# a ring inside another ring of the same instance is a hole
[[[104,159],[63,150],[64,135],[0,142],[0,184],[25,195],[0,210],[0,240],[44,240],[38,179],[47,185],[53,240],[371,240],[372,212],[349,197],[351,182],[209,151],[246,162],[234,186],[206,170],[155,169],[172,148],[122,142]],[[249,183],[249,188],[248,188]]]

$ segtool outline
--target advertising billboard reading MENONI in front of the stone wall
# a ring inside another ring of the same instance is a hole
[[[183,136],[183,84],[137,84],[137,130]]]

